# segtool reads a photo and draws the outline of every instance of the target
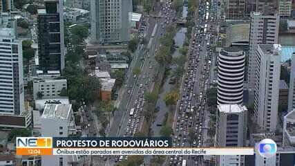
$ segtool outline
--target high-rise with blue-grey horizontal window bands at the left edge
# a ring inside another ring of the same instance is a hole
[[[19,115],[24,109],[23,52],[14,28],[0,28],[0,114]]]

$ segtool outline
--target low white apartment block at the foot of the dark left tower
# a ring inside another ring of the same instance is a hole
[[[42,93],[44,99],[59,98],[61,89],[67,89],[66,79],[61,80],[34,80],[33,95],[34,99],[38,99],[38,93]]]

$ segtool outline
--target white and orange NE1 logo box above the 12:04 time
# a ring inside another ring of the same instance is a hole
[[[50,137],[17,137],[17,147],[52,147]]]

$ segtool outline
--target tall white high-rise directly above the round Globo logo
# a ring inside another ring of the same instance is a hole
[[[260,129],[276,131],[280,84],[280,45],[259,44],[256,51],[254,117]]]

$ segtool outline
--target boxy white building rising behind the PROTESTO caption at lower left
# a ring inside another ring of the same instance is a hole
[[[75,118],[71,104],[46,104],[41,116],[43,137],[67,137],[75,131]],[[71,156],[42,156],[42,166],[68,165]]]

